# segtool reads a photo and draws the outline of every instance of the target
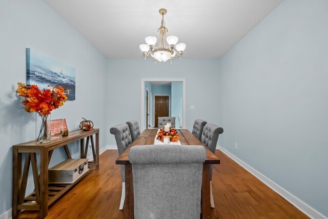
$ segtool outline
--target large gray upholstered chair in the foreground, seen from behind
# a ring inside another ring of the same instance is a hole
[[[199,219],[204,147],[134,146],[129,159],[134,218]]]

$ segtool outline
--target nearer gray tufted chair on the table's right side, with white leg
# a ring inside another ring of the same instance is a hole
[[[223,129],[211,123],[208,123],[204,126],[202,135],[201,135],[201,143],[205,145],[212,153],[215,154],[216,143],[219,138],[219,134],[223,133]],[[214,208],[214,200],[212,193],[212,173],[213,173],[213,165],[210,165],[210,198],[211,198],[211,207]]]

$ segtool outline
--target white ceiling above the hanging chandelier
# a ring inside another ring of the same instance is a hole
[[[226,53],[282,0],[44,0],[108,58],[142,58],[140,44],[155,36],[161,15],[167,35],[187,45],[183,57]],[[156,44],[157,45],[157,44]]]

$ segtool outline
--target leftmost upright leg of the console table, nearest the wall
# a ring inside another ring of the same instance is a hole
[[[17,209],[19,198],[19,185],[22,181],[22,153],[18,153],[18,149],[13,148],[13,168],[12,168],[12,218],[18,218],[20,210]]]

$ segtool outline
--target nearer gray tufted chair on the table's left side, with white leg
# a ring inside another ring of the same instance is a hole
[[[129,126],[126,123],[122,123],[112,127],[110,129],[110,132],[115,136],[118,155],[121,155],[132,143]],[[125,166],[124,165],[121,165],[121,176],[122,176],[122,194],[121,194],[121,202],[119,204],[119,210],[123,209],[124,200],[125,200]]]

